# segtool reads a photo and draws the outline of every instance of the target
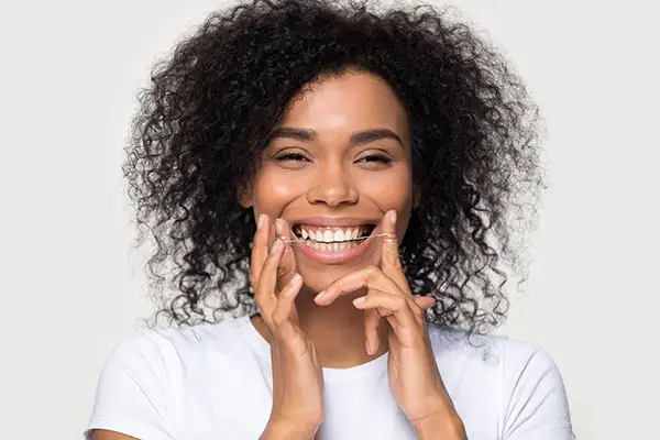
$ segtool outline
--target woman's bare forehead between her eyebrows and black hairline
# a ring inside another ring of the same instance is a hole
[[[369,73],[348,72],[309,84],[280,125],[311,129],[321,138],[365,129],[389,129],[407,140],[406,112],[392,88]]]

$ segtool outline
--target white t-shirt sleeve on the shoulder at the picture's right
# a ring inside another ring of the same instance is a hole
[[[573,440],[569,403],[554,361],[542,350],[507,363],[517,365],[505,374],[505,440]]]

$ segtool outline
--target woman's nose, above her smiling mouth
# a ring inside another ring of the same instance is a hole
[[[315,182],[307,191],[307,201],[311,205],[352,205],[358,202],[358,198],[353,179],[339,164],[320,165]]]

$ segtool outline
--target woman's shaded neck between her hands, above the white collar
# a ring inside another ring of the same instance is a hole
[[[353,306],[358,296],[348,295],[338,298],[329,306],[317,306],[314,292],[300,292],[296,298],[299,327],[314,342],[321,365],[329,369],[348,369],[364,364],[387,351],[387,328],[385,319],[378,327],[378,350],[366,353],[364,333],[364,311]],[[262,317],[252,319],[252,323],[262,337],[271,342],[271,332]]]

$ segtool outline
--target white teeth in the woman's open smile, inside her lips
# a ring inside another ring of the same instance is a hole
[[[296,224],[294,234],[300,243],[316,251],[345,251],[359,246],[375,229],[374,224],[358,227],[318,227]]]

